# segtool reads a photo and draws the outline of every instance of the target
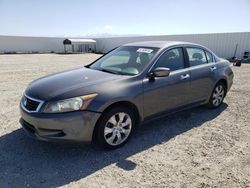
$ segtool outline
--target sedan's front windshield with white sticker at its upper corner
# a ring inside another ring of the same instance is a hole
[[[89,66],[113,74],[137,75],[148,65],[159,48],[122,46]]]

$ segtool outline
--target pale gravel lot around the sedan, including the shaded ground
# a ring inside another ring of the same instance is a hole
[[[250,187],[250,64],[224,104],[142,126],[115,151],[33,140],[18,103],[35,78],[97,55],[0,55],[0,187]]]

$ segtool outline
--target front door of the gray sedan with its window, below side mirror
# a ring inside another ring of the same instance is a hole
[[[157,60],[157,67],[170,68],[168,77],[154,81],[144,78],[144,116],[161,113],[187,104],[190,73],[184,62],[181,47],[169,49]]]

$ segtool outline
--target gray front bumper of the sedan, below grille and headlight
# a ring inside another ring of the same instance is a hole
[[[31,137],[45,141],[91,142],[100,113],[77,111],[29,113],[20,107],[20,124]]]

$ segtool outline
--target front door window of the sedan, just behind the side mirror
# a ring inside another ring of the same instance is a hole
[[[174,48],[166,51],[160,56],[156,67],[166,67],[171,71],[179,70],[184,68],[184,58],[182,48]]]

